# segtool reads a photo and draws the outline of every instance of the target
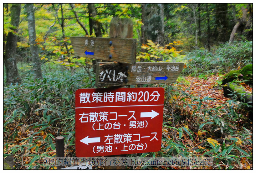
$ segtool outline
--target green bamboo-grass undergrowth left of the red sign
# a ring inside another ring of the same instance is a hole
[[[54,136],[64,136],[65,145],[74,151],[75,91],[92,88],[93,84],[88,75],[83,75],[83,68],[71,75],[65,67],[47,63],[42,66],[42,80],[33,80],[25,64],[19,64],[19,68],[22,69],[22,84],[4,87],[4,146],[21,140],[19,143],[25,145],[6,147],[6,151],[11,151],[10,154],[26,151],[24,157],[30,157],[31,161],[24,166],[39,169],[43,168],[41,158],[53,157]],[[10,127],[16,128],[11,130]],[[26,133],[21,133],[20,129]],[[73,154],[75,152],[70,156]]]

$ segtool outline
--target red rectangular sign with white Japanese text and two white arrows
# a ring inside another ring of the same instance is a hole
[[[76,156],[159,151],[163,108],[163,88],[78,89]]]

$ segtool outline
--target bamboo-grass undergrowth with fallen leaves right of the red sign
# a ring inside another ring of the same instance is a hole
[[[193,94],[187,94],[186,90],[189,90],[190,83],[184,79],[179,79],[178,82],[179,85],[175,83],[168,86],[161,85],[166,88],[165,92],[168,96],[165,108],[170,113],[164,111],[162,140],[166,143],[158,153],[163,157],[197,157],[197,154],[213,157],[214,168],[217,169],[223,169],[223,166],[226,169],[234,169],[235,165],[243,163],[243,158],[252,160],[252,153],[245,148],[252,142],[252,131],[247,130],[246,124],[241,131],[236,129],[239,122],[247,121],[239,112],[244,103],[228,100],[225,104],[209,108],[205,103],[214,102],[214,99],[208,96],[200,99]],[[182,85],[187,88],[184,90]],[[193,113],[189,114],[188,109],[194,110]],[[192,119],[196,124],[185,121]],[[189,123],[189,127],[184,123]],[[171,140],[166,137],[168,134],[165,129],[173,130]],[[189,151],[191,148],[189,149],[188,143],[184,142],[185,139],[193,142],[195,138],[201,136],[201,133],[204,134],[202,137],[206,138],[203,140],[206,142],[205,145],[193,152]],[[217,142],[211,138],[212,136],[223,137],[224,141]]]

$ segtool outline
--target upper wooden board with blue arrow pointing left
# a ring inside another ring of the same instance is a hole
[[[136,39],[70,37],[75,56],[134,64]]]

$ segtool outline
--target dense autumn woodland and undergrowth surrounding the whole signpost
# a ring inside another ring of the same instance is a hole
[[[75,156],[74,94],[95,88],[95,77],[93,59],[74,56],[69,37],[109,37],[119,17],[133,21],[138,62],[185,63],[176,83],[131,86],[163,87],[165,109],[162,149],[130,155],[214,158],[214,167],[136,169],[252,169],[252,4],[4,4],[3,12],[6,168],[56,169],[42,158],[55,157],[59,135],[65,156]]]

